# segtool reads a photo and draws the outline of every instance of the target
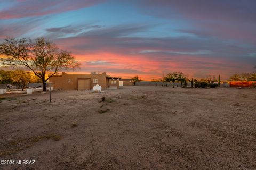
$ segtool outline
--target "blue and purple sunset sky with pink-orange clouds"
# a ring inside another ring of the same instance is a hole
[[[0,0],[6,37],[49,38],[75,72],[143,80],[256,71],[255,0]]]

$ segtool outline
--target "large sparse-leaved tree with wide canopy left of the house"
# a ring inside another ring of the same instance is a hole
[[[57,45],[44,38],[6,38],[0,44],[0,63],[6,66],[25,66],[42,80],[46,91],[46,81],[60,70],[76,69],[79,63],[70,52],[60,50]]]

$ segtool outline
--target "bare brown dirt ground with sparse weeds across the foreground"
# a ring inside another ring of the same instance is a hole
[[[0,95],[0,160],[35,160],[0,169],[256,169],[256,89],[104,91]]]

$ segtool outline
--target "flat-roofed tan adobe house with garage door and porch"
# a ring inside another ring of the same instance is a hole
[[[110,77],[106,72],[102,74],[68,74],[62,72],[62,75],[54,75],[49,79],[53,82],[53,89],[62,90],[89,90],[99,84],[102,89],[116,86],[119,89],[119,80],[121,77]]]

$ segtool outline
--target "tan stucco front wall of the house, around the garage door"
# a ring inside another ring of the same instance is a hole
[[[70,79],[70,82],[68,82]],[[107,78],[106,73],[103,74],[67,74],[62,73],[62,75],[53,76],[49,79],[49,82],[53,82],[53,89],[62,90],[77,90],[77,79],[90,79],[91,89],[96,84],[99,84],[102,89],[107,88]],[[93,83],[93,79],[98,79],[98,83]]]

